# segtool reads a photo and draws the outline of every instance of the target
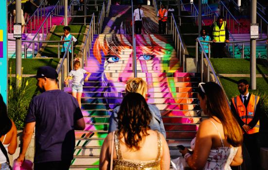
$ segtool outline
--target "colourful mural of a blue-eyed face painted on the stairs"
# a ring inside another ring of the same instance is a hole
[[[118,10],[116,7],[111,6],[110,17],[120,12],[130,18],[131,13],[127,15],[126,11],[131,8],[125,6],[127,10]],[[118,29],[119,24],[111,27],[109,23],[113,24],[113,18],[110,19],[106,20],[104,34],[94,35],[87,59],[88,67],[85,69],[91,75],[89,82],[85,82],[82,94],[86,129],[75,132],[76,146],[71,170],[98,169],[99,154],[107,136],[111,111],[122,102],[126,81],[134,76],[132,35],[122,34],[125,32]],[[106,30],[108,27],[111,28],[109,31]],[[150,30],[145,27],[143,32],[148,33]],[[147,102],[155,104],[161,111],[171,157],[178,157],[180,153],[176,146],[190,146],[203,116],[196,92],[199,77],[196,73],[182,72],[172,35],[140,34],[135,37],[138,77],[148,84]],[[71,92],[71,87],[65,87],[65,91]]]

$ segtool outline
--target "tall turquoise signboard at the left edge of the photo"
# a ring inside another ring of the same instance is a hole
[[[0,0],[0,6],[0,94],[7,103],[7,0]]]

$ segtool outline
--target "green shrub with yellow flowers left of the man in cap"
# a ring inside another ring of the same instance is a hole
[[[23,68],[22,68],[23,70]],[[16,79],[11,77],[11,67],[9,68],[9,88],[8,88],[8,116],[12,119],[18,130],[24,127],[24,119],[27,115],[29,104],[32,100],[30,89],[34,88],[31,83],[21,76],[16,76]],[[16,81],[21,81],[21,85],[16,87]]]

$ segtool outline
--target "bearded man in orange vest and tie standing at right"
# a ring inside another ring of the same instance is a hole
[[[260,148],[258,133],[260,127],[260,97],[249,93],[249,83],[241,79],[237,82],[240,95],[232,98],[231,109],[244,132],[244,145],[249,152],[252,169],[260,168]],[[246,151],[243,151],[243,157]],[[244,159],[245,160],[245,159]],[[247,165],[250,165],[245,160]],[[247,168],[249,170],[249,167]]]

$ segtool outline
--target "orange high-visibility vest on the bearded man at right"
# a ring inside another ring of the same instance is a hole
[[[254,118],[256,107],[257,107],[259,100],[260,100],[259,96],[255,96],[251,94],[248,107],[246,109],[245,105],[243,104],[239,96],[232,98],[232,103],[235,107],[236,113],[239,115],[240,119],[245,124],[249,124],[250,121]],[[247,132],[247,134],[257,133],[259,132],[259,129],[260,129],[260,121],[258,121],[257,124]]]

